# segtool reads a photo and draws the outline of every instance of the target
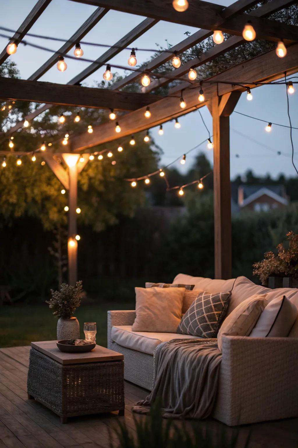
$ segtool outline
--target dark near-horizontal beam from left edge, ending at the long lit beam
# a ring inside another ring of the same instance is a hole
[[[135,110],[162,97],[109,89],[68,86],[53,82],[0,78],[0,98],[95,109]]]

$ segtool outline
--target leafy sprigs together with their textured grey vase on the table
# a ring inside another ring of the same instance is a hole
[[[54,310],[54,316],[59,318],[57,340],[80,338],[80,324],[73,314],[81,304],[82,293],[82,281],[76,282],[76,286],[63,283],[59,291],[51,289],[52,297],[46,303]]]

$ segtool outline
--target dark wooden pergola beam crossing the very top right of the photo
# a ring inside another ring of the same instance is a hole
[[[247,14],[237,14],[221,23],[222,7],[213,3],[201,0],[189,2],[189,8],[183,13],[175,11],[171,0],[163,2],[155,0],[74,0],[84,4],[102,6],[116,9],[124,13],[137,14],[140,16],[152,17],[166,22],[179,23],[180,25],[193,26],[206,30],[214,30],[218,23],[220,29],[226,33],[242,35],[243,27],[247,23]],[[287,25],[282,22],[253,18],[252,25],[256,30],[258,39],[267,39],[277,42],[280,39],[298,41],[298,27]]]

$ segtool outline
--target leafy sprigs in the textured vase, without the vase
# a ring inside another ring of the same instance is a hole
[[[54,310],[54,316],[61,319],[70,319],[76,308],[81,304],[82,293],[83,286],[81,280],[76,282],[76,286],[63,283],[60,291],[51,289],[52,297],[46,303],[49,304],[49,308]]]

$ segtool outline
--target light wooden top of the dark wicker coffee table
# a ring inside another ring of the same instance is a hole
[[[124,359],[122,353],[106,349],[105,347],[101,347],[101,345],[96,345],[91,352],[87,353],[64,353],[60,352],[56,343],[56,340],[42,340],[31,342],[31,347],[64,365],[83,364],[87,362],[121,361]]]

